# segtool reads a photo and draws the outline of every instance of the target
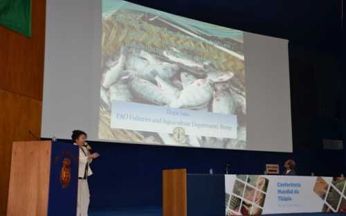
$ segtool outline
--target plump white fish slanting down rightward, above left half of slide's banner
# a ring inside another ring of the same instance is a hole
[[[128,82],[129,89],[134,96],[156,105],[167,105],[170,103],[170,100],[165,96],[163,91],[155,84],[152,84],[152,82],[133,75],[129,76]]]

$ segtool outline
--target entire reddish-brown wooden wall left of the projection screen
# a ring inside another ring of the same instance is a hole
[[[32,3],[31,38],[0,26],[0,215],[6,214],[12,142],[34,141],[41,131],[46,1]]]

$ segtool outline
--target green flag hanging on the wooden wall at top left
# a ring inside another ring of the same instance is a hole
[[[0,25],[31,36],[31,0],[0,0]]]

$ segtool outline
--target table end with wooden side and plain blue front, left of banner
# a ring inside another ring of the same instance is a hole
[[[225,215],[223,174],[163,170],[163,216]]]

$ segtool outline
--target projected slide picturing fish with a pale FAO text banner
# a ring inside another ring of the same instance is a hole
[[[246,149],[243,32],[102,0],[98,138]]]

